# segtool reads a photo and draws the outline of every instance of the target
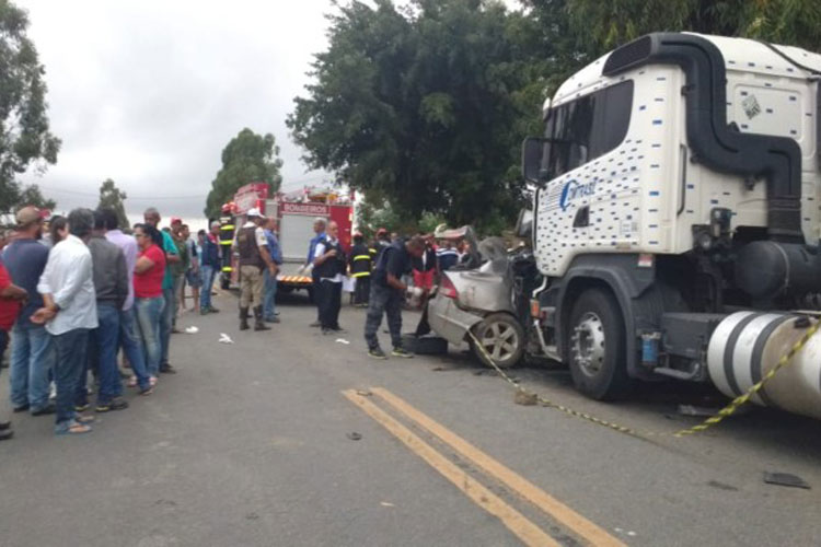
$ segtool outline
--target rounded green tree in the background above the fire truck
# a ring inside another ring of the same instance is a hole
[[[282,160],[274,136],[243,129],[222,150],[222,168],[211,183],[206,216],[219,217],[222,205],[231,201],[236,190],[248,183],[266,183],[269,191],[277,191],[282,183],[281,167]]]

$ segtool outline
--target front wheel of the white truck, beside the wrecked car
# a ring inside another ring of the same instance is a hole
[[[567,345],[576,388],[612,400],[631,387],[625,363],[624,319],[615,298],[602,289],[582,292],[570,313]]]

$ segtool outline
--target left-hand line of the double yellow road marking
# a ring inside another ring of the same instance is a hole
[[[558,547],[558,543],[542,528],[505,503],[498,496],[485,488],[484,485],[456,467],[453,462],[433,450],[432,446],[419,439],[414,432],[385,414],[373,403],[358,395],[354,389],[344,391],[343,395],[361,408],[368,416],[377,420],[444,478],[453,482],[453,486],[459,488],[474,503],[499,519],[522,543],[529,546]]]

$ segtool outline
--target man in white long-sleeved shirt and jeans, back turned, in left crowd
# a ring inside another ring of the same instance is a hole
[[[89,209],[74,209],[68,216],[68,225],[69,235],[49,253],[37,284],[44,306],[32,315],[32,322],[46,325],[57,353],[54,370],[57,434],[91,431],[88,426],[91,417],[74,411],[74,394],[82,380],[89,333],[97,327],[91,252],[85,246],[94,214]]]

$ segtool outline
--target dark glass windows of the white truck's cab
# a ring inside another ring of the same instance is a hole
[[[545,127],[547,179],[573,171],[622,143],[633,109],[633,81],[599,90],[551,109]]]

